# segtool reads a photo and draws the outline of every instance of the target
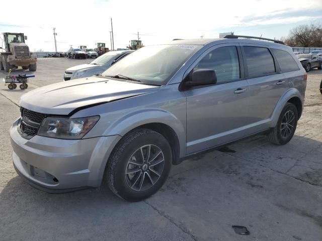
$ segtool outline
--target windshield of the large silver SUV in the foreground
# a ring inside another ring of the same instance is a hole
[[[178,44],[146,46],[112,65],[102,75],[123,75],[147,84],[164,85],[201,47]]]

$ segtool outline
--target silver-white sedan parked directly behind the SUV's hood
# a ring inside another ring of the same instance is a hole
[[[64,81],[71,79],[78,79],[90,77],[103,73],[112,64],[124,58],[126,55],[132,53],[134,50],[127,51],[111,51],[101,55],[89,64],[81,64],[65,70]]]

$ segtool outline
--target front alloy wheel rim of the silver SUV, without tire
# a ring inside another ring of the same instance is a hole
[[[165,156],[155,145],[145,145],[137,149],[127,162],[125,180],[134,191],[151,188],[163,173]]]

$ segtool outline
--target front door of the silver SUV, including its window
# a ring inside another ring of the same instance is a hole
[[[217,83],[186,90],[187,154],[243,136],[248,119],[248,83],[238,44],[220,44],[203,53],[187,71],[213,69]],[[191,72],[190,72],[191,73]]]

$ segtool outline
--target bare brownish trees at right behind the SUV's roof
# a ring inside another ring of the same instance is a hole
[[[282,40],[289,46],[322,47],[322,26],[299,25],[293,28],[288,37],[283,37]]]

